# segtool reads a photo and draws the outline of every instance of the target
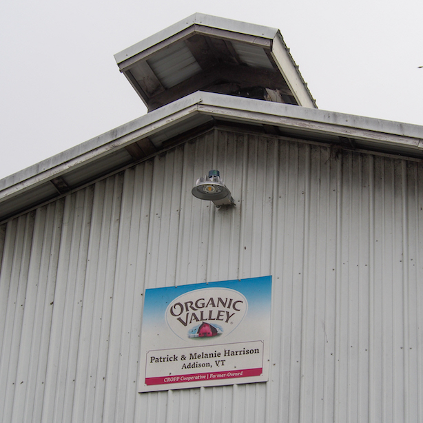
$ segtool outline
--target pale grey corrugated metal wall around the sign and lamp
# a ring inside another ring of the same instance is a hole
[[[212,168],[234,209],[192,196]],[[422,187],[417,162],[216,131],[10,220],[2,421],[423,421]],[[268,383],[136,393],[145,288],[268,274]]]

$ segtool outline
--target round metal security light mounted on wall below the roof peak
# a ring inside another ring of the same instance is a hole
[[[221,205],[235,205],[234,198],[223,180],[220,179],[218,170],[211,170],[209,176],[203,176],[197,179],[195,187],[192,189],[192,195],[200,200],[213,201],[216,207]]]

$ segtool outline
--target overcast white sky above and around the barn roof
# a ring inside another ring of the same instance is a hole
[[[113,55],[194,12],[279,28],[322,110],[423,125],[422,0],[14,0],[0,178],[146,113]]]

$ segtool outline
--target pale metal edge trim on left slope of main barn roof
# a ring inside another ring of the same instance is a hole
[[[104,134],[91,138],[88,141],[75,145],[74,147],[66,149],[59,154],[45,158],[45,160],[39,163],[35,163],[30,167],[26,167],[25,169],[11,174],[10,176],[0,179],[0,198],[3,197],[6,190],[11,189],[14,186],[25,183],[25,181],[32,178],[37,178],[37,176],[40,176],[41,174],[49,174],[52,177],[52,174],[56,175],[60,173],[54,172],[54,169],[58,169],[66,163],[74,163],[82,156],[90,154],[90,152],[94,152],[94,150],[99,152],[100,149],[110,149],[107,146],[114,143],[114,141],[128,137],[134,132],[139,132],[149,125],[154,125],[154,123],[158,123],[163,119],[171,121],[172,116],[175,114],[183,112],[183,110],[188,110],[189,107],[201,102],[201,94],[201,92],[189,94],[189,96],[185,96],[173,103],[159,107],[158,109],[136,118],[133,121],[124,123],[123,125],[107,131]],[[112,149],[118,147],[119,145],[120,143],[116,143],[116,145],[112,146]]]

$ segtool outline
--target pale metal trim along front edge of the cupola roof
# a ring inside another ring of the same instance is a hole
[[[243,21],[236,21],[228,18],[216,17],[210,14],[194,13],[191,16],[182,19],[174,23],[173,25],[164,28],[163,30],[156,32],[156,34],[147,37],[138,43],[131,45],[125,50],[114,54],[116,63],[121,63],[130,57],[147,50],[158,43],[161,43],[165,39],[168,39],[175,34],[191,27],[192,25],[203,25],[210,28],[218,28],[220,30],[226,30],[229,32],[238,32],[240,34],[249,34],[256,37],[264,37],[268,39],[274,39],[278,30],[276,28],[270,28],[263,25],[256,25],[255,23],[247,23]]]

